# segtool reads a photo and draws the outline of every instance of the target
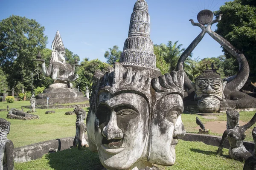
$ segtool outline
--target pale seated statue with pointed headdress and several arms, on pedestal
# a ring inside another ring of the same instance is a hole
[[[61,39],[59,31],[57,31],[55,38],[52,42],[52,58],[50,60],[49,67],[45,65],[43,59],[37,59],[42,62],[42,69],[45,76],[52,75],[54,84],[49,88],[70,88],[73,85],[70,83],[78,79],[78,75],[75,74],[75,65],[66,63],[65,60],[65,48]]]

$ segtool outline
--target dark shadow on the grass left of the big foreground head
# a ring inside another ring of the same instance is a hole
[[[102,170],[104,167],[99,161],[98,153],[89,148],[66,149],[46,155],[50,167],[55,170]]]

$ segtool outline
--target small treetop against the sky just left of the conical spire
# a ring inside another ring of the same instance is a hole
[[[107,59],[107,63],[113,65],[115,62],[119,62],[122,51],[119,50],[117,45],[114,45],[113,48],[108,48],[108,51],[105,51],[104,57]]]

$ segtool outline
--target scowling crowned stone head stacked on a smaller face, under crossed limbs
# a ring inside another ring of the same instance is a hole
[[[203,113],[217,112],[224,99],[224,88],[227,82],[223,82],[216,70],[208,69],[195,78],[195,100],[198,100],[198,109]]]

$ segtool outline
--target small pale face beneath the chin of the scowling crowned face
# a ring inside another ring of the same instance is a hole
[[[198,101],[199,111],[206,113],[217,112],[221,107],[221,101],[215,97],[205,97]]]

